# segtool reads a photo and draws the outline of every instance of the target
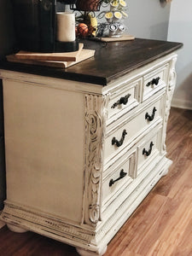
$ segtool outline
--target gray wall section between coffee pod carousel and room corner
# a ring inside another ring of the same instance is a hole
[[[166,40],[170,4],[160,0],[128,0],[128,33],[137,38]]]

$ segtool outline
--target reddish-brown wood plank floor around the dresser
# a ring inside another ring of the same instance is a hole
[[[192,111],[172,108],[166,145],[173,165],[108,245],[105,256],[192,256]],[[0,256],[78,256],[32,232],[0,230]]]

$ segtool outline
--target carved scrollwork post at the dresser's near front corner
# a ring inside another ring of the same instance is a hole
[[[101,220],[102,201],[102,96],[84,96],[84,214],[83,224]]]

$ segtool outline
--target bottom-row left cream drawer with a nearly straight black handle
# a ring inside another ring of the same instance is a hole
[[[128,152],[115,161],[108,168],[103,177],[102,184],[102,201],[103,205],[113,201],[113,197],[119,193],[137,177],[136,170],[136,149],[135,152]]]

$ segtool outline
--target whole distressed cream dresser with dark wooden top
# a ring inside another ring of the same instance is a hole
[[[102,255],[172,164],[166,125],[182,44],[87,43],[95,58],[54,68],[3,63],[10,230]]]

